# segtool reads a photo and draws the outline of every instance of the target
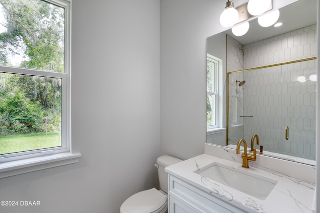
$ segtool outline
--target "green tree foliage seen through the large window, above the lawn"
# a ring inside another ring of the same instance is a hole
[[[63,72],[63,8],[42,0],[0,0],[0,5],[6,28],[0,32],[0,65]],[[10,64],[12,54],[22,61]],[[50,131],[59,131],[60,94],[59,78],[0,73],[0,128],[39,132],[50,122]]]

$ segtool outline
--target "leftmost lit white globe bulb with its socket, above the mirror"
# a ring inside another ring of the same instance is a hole
[[[233,26],[239,17],[238,11],[233,7],[233,0],[231,1],[226,2],[226,6],[220,15],[220,23],[224,27]]]

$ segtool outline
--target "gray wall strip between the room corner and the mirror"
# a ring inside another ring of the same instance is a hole
[[[160,0],[161,154],[187,159],[206,141],[206,37],[223,30],[212,0]]]

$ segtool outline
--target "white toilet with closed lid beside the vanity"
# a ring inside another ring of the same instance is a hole
[[[168,155],[158,157],[154,166],[158,168],[160,190],[152,188],[132,195],[122,203],[120,213],[165,213],[168,208],[168,176],[164,168],[178,162],[181,160]]]

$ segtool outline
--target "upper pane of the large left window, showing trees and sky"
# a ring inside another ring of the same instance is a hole
[[[64,8],[0,1],[0,65],[64,72]]]

